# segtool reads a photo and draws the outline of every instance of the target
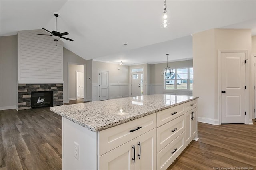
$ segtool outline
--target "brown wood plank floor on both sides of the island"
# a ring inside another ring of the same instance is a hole
[[[74,103],[75,101],[72,101]],[[62,118],[50,107],[0,115],[1,170],[61,170]],[[192,141],[168,170],[250,168],[256,170],[256,123],[198,123]]]

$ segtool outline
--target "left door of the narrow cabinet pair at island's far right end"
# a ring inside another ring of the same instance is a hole
[[[191,136],[191,124],[192,124],[192,116],[193,113],[192,111],[188,111],[185,113],[185,143],[186,146],[192,141],[192,136]]]

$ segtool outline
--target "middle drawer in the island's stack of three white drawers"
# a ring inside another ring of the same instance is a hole
[[[185,115],[182,115],[157,128],[157,152],[184,132],[184,119]]]

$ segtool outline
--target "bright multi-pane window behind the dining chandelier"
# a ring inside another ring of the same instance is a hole
[[[165,89],[193,89],[193,67],[173,69],[173,72],[169,78],[164,79]]]

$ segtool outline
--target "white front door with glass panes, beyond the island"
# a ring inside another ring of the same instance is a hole
[[[143,73],[132,73],[131,74],[131,96],[140,96],[143,94]]]

